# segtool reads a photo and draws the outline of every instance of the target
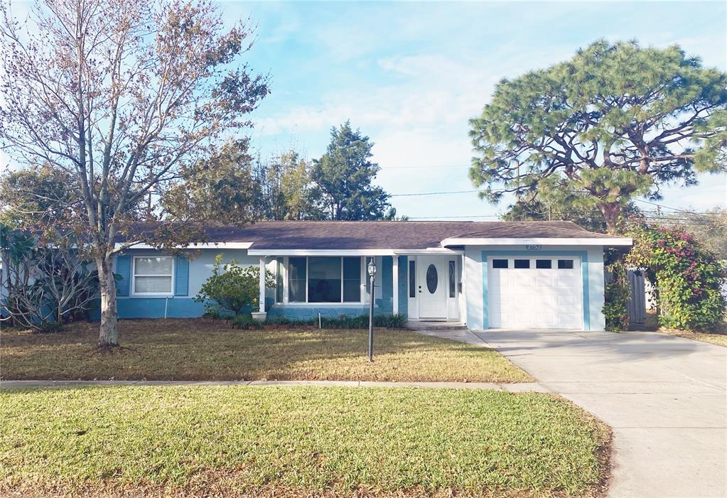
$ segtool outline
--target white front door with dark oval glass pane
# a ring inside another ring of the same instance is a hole
[[[419,318],[447,319],[447,264],[443,257],[417,258]]]

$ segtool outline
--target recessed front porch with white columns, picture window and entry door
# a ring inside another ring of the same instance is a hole
[[[465,321],[462,251],[263,251],[260,258],[260,297],[253,316],[310,318],[358,316],[369,313],[367,266],[373,260],[374,313],[407,316],[420,326]],[[265,271],[275,286],[265,287]]]

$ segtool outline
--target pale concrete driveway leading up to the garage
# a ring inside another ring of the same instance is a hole
[[[727,348],[654,332],[454,332],[613,427],[608,497],[727,497]]]

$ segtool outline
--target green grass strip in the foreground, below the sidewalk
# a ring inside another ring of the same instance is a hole
[[[28,496],[590,497],[610,438],[539,393],[85,387],[0,405],[0,494]]]

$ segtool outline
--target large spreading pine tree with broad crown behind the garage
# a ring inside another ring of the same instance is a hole
[[[676,46],[597,41],[501,81],[470,125],[481,197],[584,192],[614,230],[630,199],[726,170],[727,75]]]

